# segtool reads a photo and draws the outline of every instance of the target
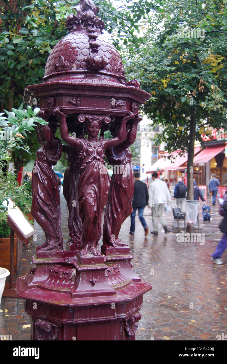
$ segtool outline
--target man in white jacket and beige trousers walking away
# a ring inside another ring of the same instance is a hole
[[[168,233],[166,219],[162,216],[164,206],[171,202],[171,195],[166,182],[158,179],[157,172],[152,173],[153,182],[149,186],[149,207],[151,207],[153,231],[152,234],[158,235],[158,221],[164,227],[165,233]]]

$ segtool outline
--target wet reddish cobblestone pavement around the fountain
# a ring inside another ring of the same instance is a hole
[[[61,192],[62,232],[66,242],[67,206]],[[210,197],[207,204],[212,206]],[[168,227],[164,234],[158,225],[158,236],[144,237],[144,230],[136,216],[135,235],[129,235],[130,217],[121,227],[119,238],[130,246],[133,270],[148,281],[153,289],[144,295],[144,307],[136,333],[136,340],[216,340],[227,333],[227,250],[223,265],[211,261],[222,233],[218,225],[222,219],[218,205],[211,208],[210,222],[203,222],[202,203],[199,208],[201,242],[177,242],[176,233],[183,230],[183,221],[177,230],[172,211],[167,215]],[[148,207],[144,217],[152,230],[152,217]],[[33,267],[31,257],[35,247],[42,244],[44,233],[35,223],[37,241],[24,246],[17,277]],[[195,229],[194,232],[197,232]],[[204,242],[204,244],[203,244]],[[101,246],[101,241],[100,241]],[[12,335],[12,340],[30,340],[29,316],[24,312],[23,300],[2,298],[0,334]],[[7,312],[5,312],[5,309]]]

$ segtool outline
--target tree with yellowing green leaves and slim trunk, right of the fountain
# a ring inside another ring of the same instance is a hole
[[[226,1],[168,1],[141,27],[143,42],[125,54],[130,78],[152,94],[143,110],[161,125],[158,141],[169,153],[188,153],[188,199],[195,140],[209,126],[226,128],[226,15]]]

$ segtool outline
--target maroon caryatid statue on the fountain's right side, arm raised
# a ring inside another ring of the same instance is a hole
[[[131,164],[132,153],[128,147],[135,142],[137,125],[141,116],[135,117],[130,125],[128,135],[123,143],[107,149],[108,162],[113,165],[110,193],[107,200],[103,223],[103,246],[125,246],[119,238],[121,225],[132,213],[132,198],[134,194],[134,173]],[[110,132],[114,137],[119,124],[113,124]]]

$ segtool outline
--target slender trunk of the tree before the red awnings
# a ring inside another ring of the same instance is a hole
[[[192,108],[190,119],[189,146],[187,150],[187,200],[194,200],[193,159],[195,144],[196,110]]]

